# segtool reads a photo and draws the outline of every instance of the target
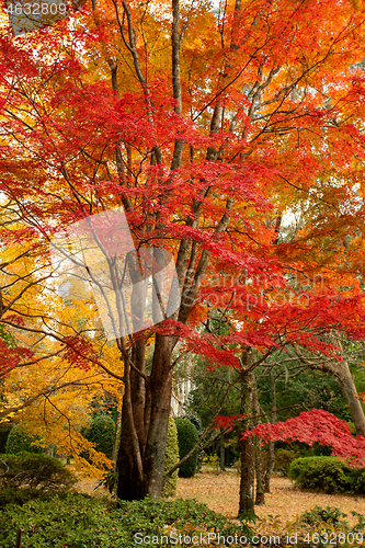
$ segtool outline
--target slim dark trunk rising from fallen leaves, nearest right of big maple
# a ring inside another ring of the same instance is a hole
[[[248,368],[251,365],[251,349],[242,353],[242,366]],[[252,378],[253,373],[249,372],[242,376],[241,388],[241,414],[248,416],[252,411]],[[250,427],[250,419],[242,424],[242,430]],[[241,480],[240,480],[240,502],[239,515],[254,510],[254,447],[251,437],[240,441],[241,445]]]

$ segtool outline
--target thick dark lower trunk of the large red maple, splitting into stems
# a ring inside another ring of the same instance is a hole
[[[135,351],[136,368],[137,354]],[[172,389],[170,364],[171,341],[167,336],[156,335],[152,373],[146,391],[141,389],[146,384],[145,379],[135,369],[125,372],[126,390],[123,398],[122,435],[117,458],[118,499],[144,499],[147,494],[161,496]],[[141,356],[140,365],[144,366]],[[128,378],[133,387],[132,392],[128,390]]]

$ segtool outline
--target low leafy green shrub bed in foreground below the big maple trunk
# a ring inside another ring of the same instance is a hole
[[[132,548],[157,546],[153,535],[199,537],[207,532],[226,537],[251,535],[194,500],[121,501],[119,509],[81,493],[66,496],[54,494],[52,500],[34,500],[22,506],[9,505],[0,513],[1,548],[14,548],[16,528],[23,529],[24,548]],[[149,536],[149,541],[136,541],[136,533]],[[176,537],[170,537],[171,539]],[[155,537],[156,539],[156,537]],[[159,543],[160,544],[160,543]],[[170,543],[192,546],[185,543]],[[161,543],[162,545],[162,543]],[[212,544],[210,544],[212,545]],[[163,546],[167,546],[164,540]]]

